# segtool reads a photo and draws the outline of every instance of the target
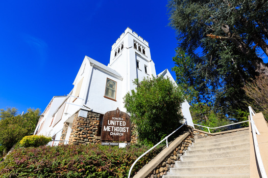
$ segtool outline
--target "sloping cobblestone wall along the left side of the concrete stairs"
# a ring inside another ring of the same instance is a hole
[[[175,161],[180,160],[180,157],[188,150],[188,146],[191,146],[192,142],[194,142],[194,138],[191,133],[146,178],[158,178],[166,175],[169,168],[174,167]]]

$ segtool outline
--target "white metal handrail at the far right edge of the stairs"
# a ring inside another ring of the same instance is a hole
[[[252,130],[252,136],[253,136],[253,141],[254,141],[254,147],[255,147],[255,154],[257,157],[257,162],[258,162],[258,166],[260,169],[260,173],[261,173],[261,177],[262,178],[267,178],[264,166],[263,166],[263,162],[260,156],[260,149],[259,149],[259,145],[258,145],[258,140],[257,140],[257,136],[256,133],[259,135],[259,131],[253,121],[253,117],[252,115],[255,115],[255,111],[251,108],[251,106],[249,106],[249,110],[250,110],[250,123],[251,123],[251,130]]]

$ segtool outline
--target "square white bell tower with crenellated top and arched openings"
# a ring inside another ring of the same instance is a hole
[[[142,80],[144,77],[156,76],[149,43],[129,27],[112,45],[108,66],[123,76],[124,93],[135,88],[135,78]]]

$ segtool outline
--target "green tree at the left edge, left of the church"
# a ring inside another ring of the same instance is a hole
[[[39,109],[29,108],[23,115],[12,115],[0,120],[0,143],[8,151],[24,136],[34,132],[40,116]]]

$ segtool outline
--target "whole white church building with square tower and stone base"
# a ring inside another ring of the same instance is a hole
[[[63,140],[64,144],[77,140],[76,144],[99,143],[103,114],[117,107],[126,112],[123,97],[135,88],[132,81],[152,75],[168,77],[176,83],[167,69],[156,74],[148,42],[128,27],[112,45],[108,66],[85,56],[74,88],[67,96],[52,98],[39,119],[35,134],[52,136],[54,140]],[[189,107],[185,101],[181,112],[185,120],[192,123]]]

